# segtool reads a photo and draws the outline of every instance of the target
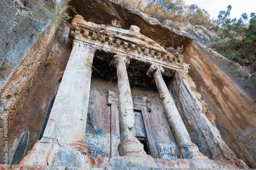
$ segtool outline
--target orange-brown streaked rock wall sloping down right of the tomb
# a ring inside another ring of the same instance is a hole
[[[209,54],[195,43],[186,48],[184,56],[187,56],[184,61],[190,64],[189,75],[215,115],[222,138],[239,158],[255,167],[254,99],[241,89],[239,82],[232,81],[234,78],[222,71],[229,66],[224,58]],[[222,61],[224,68],[219,68],[218,63],[211,60],[214,57]]]

